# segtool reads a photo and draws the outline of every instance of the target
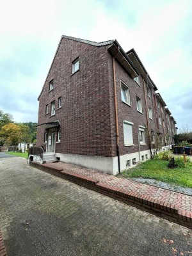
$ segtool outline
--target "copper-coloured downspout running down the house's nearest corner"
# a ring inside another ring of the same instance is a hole
[[[117,101],[116,101],[116,77],[115,77],[115,57],[118,53],[120,47],[118,46],[118,49],[116,49],[116,52],[112,58],[113,63],[113,87],[114,87],[114,100],[115,100],[115,126],[116,126],[116,154],[118,159],[118,173],[121,172],[120,169],[120,152],[119,152],[119,134],[118,134],[118,113],[117,113]]]

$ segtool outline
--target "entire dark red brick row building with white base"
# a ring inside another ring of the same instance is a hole
[[[116,40],[62,36],[38,97],[36,145],[60,161],[116,173],[173,143],[175,119],[140,58]]]

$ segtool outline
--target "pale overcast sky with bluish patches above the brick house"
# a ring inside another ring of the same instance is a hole
[[[134,48],[177,127],[192,130],[191,0],[6,0],[0,15],[0,109],[37,122],[61,35]]]

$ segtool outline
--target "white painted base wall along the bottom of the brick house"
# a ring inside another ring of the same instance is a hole
[[[142,160],[143,156],[143,160]],[[56,157],[60,157],[60,161],[70,164],[76,164],[89,169],[98,170],[99,172],[108,173],[111,175],[118,174],[118,159],[117,157],[98,157],[98,156],[84,156],[84,155],[74,155],[74,154],[61,154],[56,153]],[[136,159],[136,163],[140,163],[150,159],[150,150],[144,150],[139,152],[126,154],[120,156],[120,168],[121,171],[126,168],[131,168],[135,166],[132,163],[132,159]],[[130,161],[130,166],[127,166],[127,161]]]

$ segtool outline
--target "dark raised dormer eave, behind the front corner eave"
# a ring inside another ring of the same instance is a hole
[[[158,89],[157,89],[156,84],[154,84],[154,82],[152,81],[150,76],[148,76],[148,72],[145,69],[145,67],[143,66],[143,63],[141,62],[141,60],[140,60],[138,54],[136,53],[136,51],[134,50],[134,48],[132,48],[131,50],[126,52],[126,54],[129,57],[129,60],[132,61],[132,64],[134,65],[134,67],[136,67],[138,72],[145,79],[145,82],[148,84],[148,86],[150,86],[150,88],[154,88],[154,90],[157,91]]]

